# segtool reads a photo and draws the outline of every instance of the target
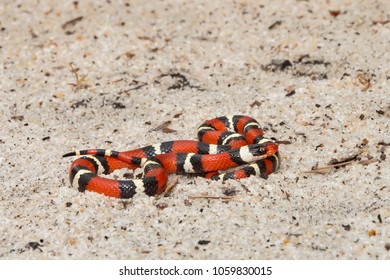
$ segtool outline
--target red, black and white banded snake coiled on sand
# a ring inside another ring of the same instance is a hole
[[[70,182],[79,191],[98,192],[118,198],[136,193],[149,196],[164,191],[169,173],[193,173],[213,180],[266,177],[280,164],[278,146],[263,136],[259,123],[248,116],[223,116],[204,122],[198,139],[167,141],[136,150],[117,152],[89,149],[67,153],[79,156],[71,166]],[[245,165],[219,174],[219,170]],[[144,177],[113,180],[99,177],[116,169],[142,167]]]

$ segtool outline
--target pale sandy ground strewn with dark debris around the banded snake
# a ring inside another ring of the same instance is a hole
[[[390,259],[388,11],[3,0],[0,258]],[[232,114],[281,142],[267,180],[179,176],[127,201],[70,186],[63,153],[195,139]]]

